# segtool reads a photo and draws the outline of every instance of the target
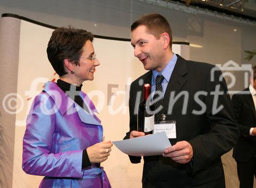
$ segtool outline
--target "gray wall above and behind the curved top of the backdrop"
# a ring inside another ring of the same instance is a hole
[[[72,25],[94,34],[122,38],[130,38],[131,23],[150,12],[160,13],[169,20],[174,40],[187,40],[203,47],[191,47],[190,57],[193,60],[224,64],[232,59],[241,64],[246,63],[243,50],[255,48],[256,26],[199,13],[185,13],[138,0],[0,2],[1,14],[13,13],[57,27]]]

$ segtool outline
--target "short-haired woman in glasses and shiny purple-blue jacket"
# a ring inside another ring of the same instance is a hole
[[[74,28],[58,28],[50,38],[48,59],[60,78],[35,97],[23,139],[23,170],[46,176],[39,187],[111,187],[100,162],[113,143],[103,141],[97,110],[81,91],[99,66],[92,40]]]

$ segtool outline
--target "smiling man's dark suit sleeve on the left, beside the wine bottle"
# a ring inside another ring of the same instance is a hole
[[[136,95],[134,95],[135,89],[134,84],[131,84],[130,88],[130,98],[129,98],[129,113],[130,113],[130,131],[126,133],[123,139],[129,139],[132,131],[137,131],[137,113],[135,113],[136,107]],[[130,161],[132,163],[140,163],[141,157],[130,156]]]

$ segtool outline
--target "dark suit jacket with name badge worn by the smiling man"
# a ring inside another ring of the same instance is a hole
[[[176,163],[161,155],[143,157],[143,187],[225,187],[221,155],[231,150],[240,133],[234,122],[225,80],[218,81],[221,71],[217,69],[211,74],[213,68],[215,68],[213,65],[188,61],[178,56],[166,88],[160,114],[165,114],[166,120],[176,120],[177,138],[169,139],[170,143],[173,145],[177,141],[186,140],[193,147],[193,169],[189,170],[190,163],[185,165]],[[211,77],[214,78],[213,81],[210,80]],[[130,132],[126,133],[124,139],[130,137],[131,131],[137,130],[136,102],[139,100],[136,98],[137,93],[140,94],[140,99],[142,97],[141,79],[144,83],[151,84],[152,71],[145,73],[131,84]],[[212,114],[216,97],[210,92],[215,91],[216,87],[224,92],[216,100],[216,108],[221,105],[224,108]],[[200,95],[196,96],[196,93]],[[176,98],[176,101],[170,99],[177,95],[181,97]],[[184,107],[187,108],[184,110]],[[203,113],[196,115],[193,110]],[[129,157],[132,163],[141,160],[141,157]]]

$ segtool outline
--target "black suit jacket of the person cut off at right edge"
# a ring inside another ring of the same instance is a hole
[[[249,88],[243,91],[249,93],[241,94],[240,92],[232,96],[234,116],[241,131],[241,137],[233,149],[233,157],[237,161],[247,162],[256,152],[255,136],[249,134],[250,128],[256,127],[256,114]]]

